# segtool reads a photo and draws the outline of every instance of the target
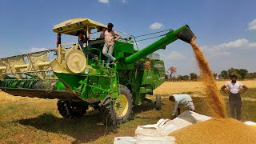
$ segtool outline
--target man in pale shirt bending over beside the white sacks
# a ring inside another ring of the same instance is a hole
[[[183,106],[188,106],[191,111],[194,111],[194,103],[189,94],[174,94],[169,97],[171,102],[175,102],[173,113],[171,114],[170,119],[176,118],[175,113],[178,110],[178,114],[181,114],[179,104]]]

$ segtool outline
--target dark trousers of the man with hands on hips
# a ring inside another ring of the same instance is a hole
[[[229,102],[230,102],[231,117],[240,120],[241,119],[241,107],[242,107],[242,101],[241,101],[240,94],[239,93],[238,94],[230,93]],[[234,112],[236,112],[237,117],[235,117]]]

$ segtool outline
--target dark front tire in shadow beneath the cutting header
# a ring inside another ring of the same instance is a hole
[[[58,100],[58,112],[63,118],[79,118],[86,114],[88,106],[83,105],[82,102],[69,102]]]

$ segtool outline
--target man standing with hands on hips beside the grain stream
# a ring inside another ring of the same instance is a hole
[[[230,113],[232,118],[236,118],[238,120],[241,119],[241,107],[242,101],[240,94],[246,92],[248,89],[247,86],[242,84],[242,82],[237,82],[238,77],[236,75],[232,75],[231,82],[226,82],[224,86],[222,86],[222,91],[226,94],[229,94],[229,103],[230,103]],[[229,91],[226,91],[225,88],[228,87]],[[239,88],[242,87],[243,90],[240,92]],[[235,117],[234,111],[236,111],[237,116]]]

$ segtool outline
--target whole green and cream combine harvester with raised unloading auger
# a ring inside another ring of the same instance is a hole
[[[106,25],[88,18],[74,18],[53,30],[78,36],[85,29],[96,33],[103,28]],[[86,42],[86,53],[73,42],[58,44],[52,50],[0,58],[0,89],[17,96],[58,98],[58,111],[64,118],[82,116],[93,106],[101,111],[104,123],[126,122],[133,106],[152,102],[146,94],[152,95],[165,81],[164,62],[152,54],[178,38],[190,42],[195,37],[189,26],[182,26],[142,50],[134,50],[130,38],[121,38],[115,42],[113,55],[117,61],[110,67],[106,67],[104,39],[100,38]],[[56,58],[50,59],[54,55]]]

